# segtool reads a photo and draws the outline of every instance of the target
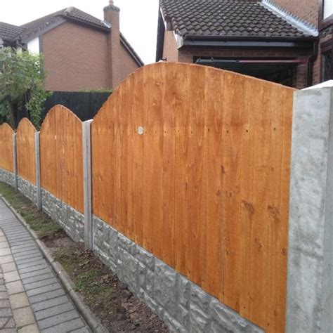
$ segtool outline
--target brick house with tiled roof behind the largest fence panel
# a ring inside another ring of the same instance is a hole
[[[156,60],[302,89],[333,78],[333,0],[160,0]]]

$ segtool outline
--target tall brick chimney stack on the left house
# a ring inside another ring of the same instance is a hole
[[[109,6],[104,8],[104,20],[110,23],[111,32],[107,37],[108,49],[108,68],[109,68],[109,87],[115,87],[122,81],[121,63],[120,63],[120,27],[119,27],[120,9],[114,5],[113,0],[109,0]]]

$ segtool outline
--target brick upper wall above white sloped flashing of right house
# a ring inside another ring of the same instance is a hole
[[[271,0],[275,6],[318,27],[319,0]]]

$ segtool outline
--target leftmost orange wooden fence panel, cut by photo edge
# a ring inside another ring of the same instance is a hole
[[[14,172],[13,129],[4,123],[0,126],[0,168]]]

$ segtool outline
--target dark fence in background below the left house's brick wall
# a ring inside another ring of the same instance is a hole
[[[77,91],[54,91],[52,96],[45,102],[42,118],[54,105],[61,104],[72,110],[82,122],[93,119],[105,100],[111,95],[110,92],[77,92]]]

